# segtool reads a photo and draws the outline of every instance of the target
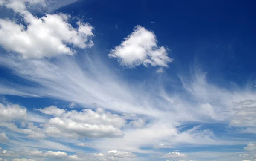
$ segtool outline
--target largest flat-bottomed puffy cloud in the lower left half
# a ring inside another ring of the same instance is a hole
[[[60,117],[51,118],[45,124],[47,135],[58,137],[66,136],[70,138],[101,138],[120,137],[120,128],[125,124],[125,120],[119,115],[105,112],[103,109],[83,109],[68,111]]]

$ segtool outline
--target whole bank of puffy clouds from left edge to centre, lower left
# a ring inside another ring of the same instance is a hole
[[[56,106],[49,106],[44,109],[35,109],[41,113],[51,115],[52,118],[35,126],[33,122],[22,122],[22,127],[18,127],[14,120],[26,118],[26,108],[18,105],[0,104],[1,121],[0,126],[6,127],[14,132],[26,134],[29,138],[67,137],[67,138],[115,138],[121,137],[121,127],[126,123],[125,119],[119,115],[105,112],[104,109],[82,109],[67,111]],[[3,133],[1,140],[8,140]]]

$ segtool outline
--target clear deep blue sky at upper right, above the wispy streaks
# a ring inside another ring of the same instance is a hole
[[[83,16],[95,26],[96,46],[101,46],[103,57],[141,25],[155,33],[159,45],[171,49],[175,61],[169,70],[200,65],[211,71],[212,79],[221,74],[224,80],[246,84],[256,77],[255,4],[250,0],[79,0],[55,12]]]

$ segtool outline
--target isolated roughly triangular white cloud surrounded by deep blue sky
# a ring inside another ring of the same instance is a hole
[[[153,32],[142,26],[135,26],[134,31],[119,46],[111,49],[110,58],[117,58],[123,66],[134,67],[141,64],[168,67],[173,59],[167,56],[166,49],[157,46]]]

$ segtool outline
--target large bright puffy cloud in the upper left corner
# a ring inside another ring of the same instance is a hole
[[[39,0],[38,0],[39,1]],[[7,8],[19,13],[26,23],[9,19],[0,19],[0,40],[6,50],[20,53],[23,58],[52,57],[60,54],[73,55],[71,48],[84,49],[93,46],[93,27],[78,21],[77,28],[69,23],[66,14],[46,14],[38,18],[26,10],[23,1],[12,0],[4,4]]]

